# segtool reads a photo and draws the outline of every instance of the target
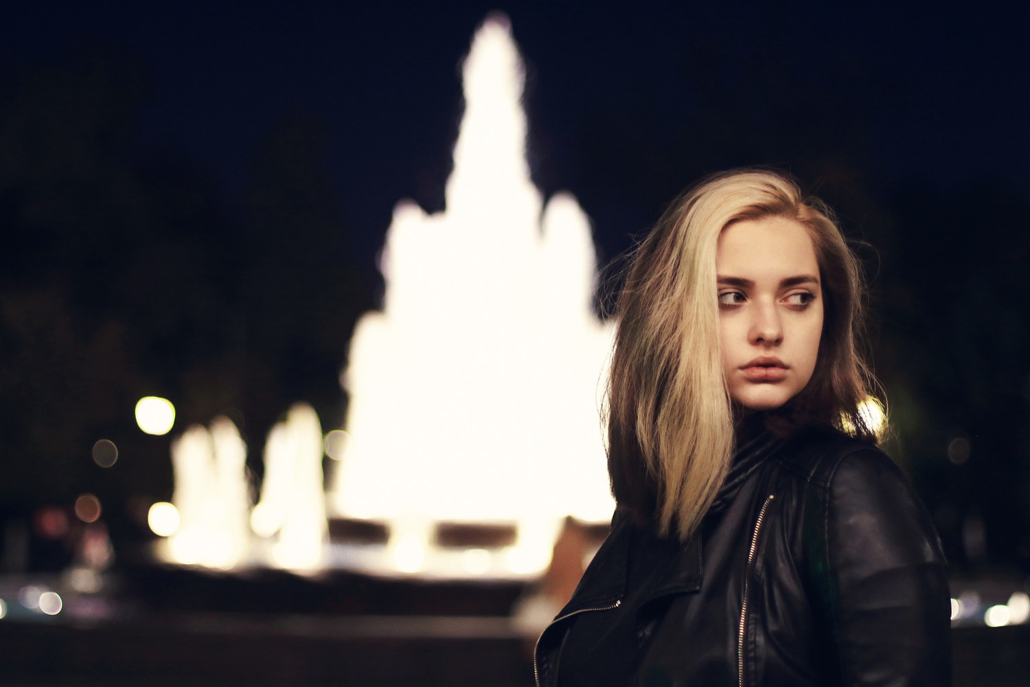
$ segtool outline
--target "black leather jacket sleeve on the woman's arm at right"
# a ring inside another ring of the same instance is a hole
[[[827,667],[846,687],[950,685],[948,571],[926,509],[871,447],[845,455],[824,486],[814,572]]]

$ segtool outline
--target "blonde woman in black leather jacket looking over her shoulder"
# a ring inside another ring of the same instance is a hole
[[[779,174],[710,178],[640,245],[609,389],[612,531],[539,685],[947,685],[928,515],[876,447],[856,259]]]

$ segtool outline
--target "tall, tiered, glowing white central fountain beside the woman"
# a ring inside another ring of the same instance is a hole
[[[398,204],[383,309],[358,321],[341,376],[349,439],[331,510],[386,523],[347,564],[426,576],[538,574],[565,515],[607,521],[597,391],[612,327],[594,315],[589,221],[544,204],[525,161],[524,70],[487,21],[464,66],[447,209]],[[504,546],[446,551],[439,523],[515,526]]]

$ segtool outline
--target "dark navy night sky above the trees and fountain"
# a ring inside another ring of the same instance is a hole
[[[373,243],[399,199],[442,205],[458,65],[491,9],[528,62],[538,183],[580,197],[612,248],[698,173],[808,171],[798,147],[851,160],[876,192],[1028,181],[1027,18],[991,3],[252,4],[36,3],[0,28],[0,58],[8,72],[82,46],[137,61],[141,143],[175,149],[230,196],[262,135],[306,110],[329,129],[340,203]]]

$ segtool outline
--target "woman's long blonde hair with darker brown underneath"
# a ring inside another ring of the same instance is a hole
[[[729,470],[733,409],[719,344],[716,250],[730,224],[768,216],[809,230],[824,299],[816,369],[776,413],[780,428],[829,425],[874,440],[859,410],[873,384],[859,354],[865,288],[829,210],[778,173],[709,177],[681,195],[637,247],[616,309],[608,388],[612,492],[662,535],[689,537]]]

